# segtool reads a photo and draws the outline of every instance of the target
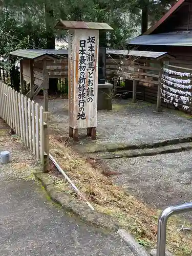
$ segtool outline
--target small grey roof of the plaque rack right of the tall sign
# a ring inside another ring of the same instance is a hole
[[[152,59],[162,59],[162,58],[170,58],[175,59],[173,55],[168,54],[167,52],[151,52],[151,51],[130,51],[129,56],[136,56],[136,57],[145,57],[145,58],[152,58]]]

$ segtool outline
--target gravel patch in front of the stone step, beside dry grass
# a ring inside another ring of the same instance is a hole
[[[114,176],[115,183],[144,202],[161,209],[192,201],[191,156],[190,151],[102,162],[121,173]]]

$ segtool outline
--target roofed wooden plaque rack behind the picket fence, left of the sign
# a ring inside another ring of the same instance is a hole
[[[68,77],[67,50],[16,50],[11,56],[18,57],[20,63],[20,91],[24,93],[24,83],[29,83],[26,96],[31,99],[44,89],[44,109],[48,111],[49,78]]]

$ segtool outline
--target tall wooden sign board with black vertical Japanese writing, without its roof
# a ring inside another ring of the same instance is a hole
[[[97,126],[99,30],[69,30],[69,126]]]

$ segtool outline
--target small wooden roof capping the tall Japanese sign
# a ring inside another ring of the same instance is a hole
[[[98,29],[98,30],[113,30],[106,23],[97,22],[71,22],[69,20],[60,20],[55,29]]]

